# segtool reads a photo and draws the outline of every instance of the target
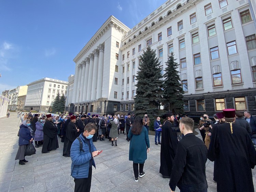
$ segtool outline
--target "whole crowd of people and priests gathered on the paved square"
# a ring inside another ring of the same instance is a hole
[[[254,191],[251,168],[256,165],[256,118],[250,112],[234,109],[224,109],[213,117],[214,121],[207,114],[200,117],[198,128],[203,141],[194,135],[194,120],[189,117],[167,113],[154,120],[155,144],[161,145],[159,173],[170,179],[171,191],[176,186],[181,191],[207,191],[207,159],[214,161],[217,191]],[[147,114],[142,118],[130,113],[125,117],[28,113],[20,114],[20,118],[15,160],[20,165],[28,162],[25,150],[33,140],[36,148],[42,147],[42,153],[56,150],[59,137],[64,143],[63,156],[72,160],[75,191],[90,191],[94,157],[102,152],[93,142],[109,139],[112,146],[117,146],[119,134],[126,134],[130,142],[129,160],[133,161],[135,181],[145,175],[143,167],[150,151]]]

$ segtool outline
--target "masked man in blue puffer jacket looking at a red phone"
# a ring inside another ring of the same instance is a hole
[[[98,151],[93,144],[93,135],[97,128],[94,123],[88,123],[84,132],[71,145],[71,176],[75,182],[75,192],[90,191],[92,165],[96,168],[94,157],[98,156]],[[79,139],[80,138],[80,141]],[[82,144],[81,144],[81,143]]]

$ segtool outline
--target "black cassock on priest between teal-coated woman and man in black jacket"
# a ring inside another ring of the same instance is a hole
[[[177,135],[172,131],[172,127],[172,123],[168,120],[166,120],[162,125],[159,173],[161,173],[163,177],[171,176],[172,163],[178,144]]]

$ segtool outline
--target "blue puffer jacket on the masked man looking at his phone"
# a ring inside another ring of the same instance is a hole
[[[70,157],[71,157],[71,176],[75,179],[82,179],[82,178],[88,178],[89,173],[89,161],[92,158],[92,155],[89,151],[89,146],[85,142],[85,138],[80,134],[80,138],[83,143],[83,151],[80,152],[80,142],[78,139],[75,139],[75,141],[71,145],[70,149]],[[96,147],[93,144],[93,139],[90,139],[90,145],[91,145],[91,152],[96,151]],[[95,162],[93,160],[93,166],[95,166]]]

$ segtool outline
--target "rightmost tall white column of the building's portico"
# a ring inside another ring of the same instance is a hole
[[[103,62],[104,62],[104,46],[100,44],[99,49],[99,66],[98,66],[98,80],[97,80],[97,95],[96,99],[102,98],[102,80],[103,80]]]

